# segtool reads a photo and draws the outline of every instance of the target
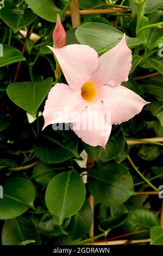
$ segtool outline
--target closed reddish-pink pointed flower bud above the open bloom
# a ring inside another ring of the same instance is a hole
[[[53,32],[53,46],[57,48],[66,46],[66,32],[60,21],[59,14],[57,14],[57,23]]]

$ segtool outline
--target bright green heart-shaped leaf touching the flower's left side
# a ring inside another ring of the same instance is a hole
[[[7,94],[16,105],[35,117],[37,109],[48,94],[52,83],[52,77],[38,82],[10,83]]]

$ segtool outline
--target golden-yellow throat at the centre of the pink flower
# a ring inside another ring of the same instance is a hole
[[[97,94],[96,84],[91,81],[84,83],[81,90],[83,100],[86,101],[93,101]]]

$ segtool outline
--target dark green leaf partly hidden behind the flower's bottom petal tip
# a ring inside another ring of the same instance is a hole
[[[124,148],[125,140],[124,135],[120,127],[116,127],[111,132],[111,136],[106,144],[105,149],[97,146],[92,147],[84,143],[84,148],[88,155],[92,157],[96,162],[107,162],[114,159]]]

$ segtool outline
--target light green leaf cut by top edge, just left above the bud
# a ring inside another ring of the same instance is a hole
[[[58,9],[53,0],[25,0],[29,7],[42,19],[56,22],[57,14],[61,15],[62,10]]]

